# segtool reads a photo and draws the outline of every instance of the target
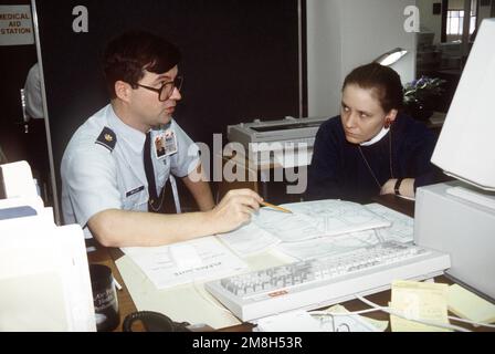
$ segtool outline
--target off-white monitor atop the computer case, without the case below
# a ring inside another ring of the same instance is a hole
[[[495,191],[495,19],[471,50],[431,162],[445,174]]]

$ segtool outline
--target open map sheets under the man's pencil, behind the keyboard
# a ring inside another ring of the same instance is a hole
[[[367,207],[341,200],[281,205],[293,214],[262,208],[242,228],[218,237],[238,254],[277,247],[297,259],[351,251],[379,241],[375,230],[392,222]],[[340,238],[346,236],[346,239]]]

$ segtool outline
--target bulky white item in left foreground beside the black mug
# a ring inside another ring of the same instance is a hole
[[[56,226],[27,162],[0,165],[0,332],[94,332],[86,246]]]

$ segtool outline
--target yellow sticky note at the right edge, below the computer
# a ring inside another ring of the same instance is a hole
[[[449,310],[475,322],[495,322],[495,305],[459,284],[449,288]]]

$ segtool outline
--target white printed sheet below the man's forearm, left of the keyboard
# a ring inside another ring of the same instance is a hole
[[[170,252],[170,247],[173,246],[133,247],[122,250],[143,270],[157,289],[227,277],[247,267],[214,237],[204,237],[180,243],[193,247],[201,259],[201,264],[193,262],[187,269],[185,263],[177,264]],[[180,243],[176,243],[176,246]]]

